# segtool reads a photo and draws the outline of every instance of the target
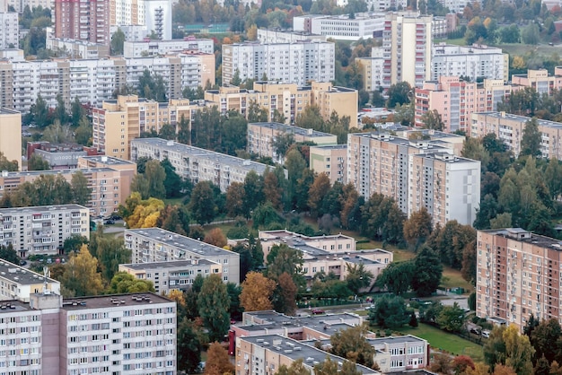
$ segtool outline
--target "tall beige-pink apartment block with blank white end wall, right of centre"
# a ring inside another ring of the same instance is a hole
[[[347,137],[347,183],[365,197],[390,196],[408,215],[426,206],[434,223],[474,222],[479,176],[479,161],[458,158],[451,146],[439,141],[378,133]]]

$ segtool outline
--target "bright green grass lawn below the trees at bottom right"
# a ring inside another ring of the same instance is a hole
[[[419,327],[402,327],[398,331],[404,335],[414,335],[424,338],[436,349],[441,348],[455,355],[470,355],[474,362],[484,361],[482,346],[465,340],[462,337],[446,333],[439,328],[420,323]]]

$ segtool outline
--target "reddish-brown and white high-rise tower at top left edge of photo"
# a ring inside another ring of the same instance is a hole
[[[110,44],[110,0],[54,0],[55,38]]]

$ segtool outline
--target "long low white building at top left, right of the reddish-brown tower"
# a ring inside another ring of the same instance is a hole
[[[214,45],[213,39],[196,39],[194,37],[186,37],[184,39],[125,41],[123,45],[123,57],[155,57],[184,50],[213,54],[215,52]]]

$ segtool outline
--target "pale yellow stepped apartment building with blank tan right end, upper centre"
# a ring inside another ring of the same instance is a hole
[[[267,109],[268,121],[275,111],[285,116],[286,124],[294,124],[297,116],[307,106],[317,106],[324,120],[332,112],[339,118],[349,117],[349,127],[357,127],[357,91],[331,83],[312,82],[310,86],[299,87],[296,83],[254,82],[253,90],[237,86],[222,86],[218,90],[207,90],[205,100],[218,106],[222,114],[236,110],[245,117],[252,102]]]

